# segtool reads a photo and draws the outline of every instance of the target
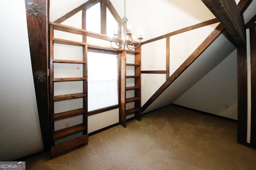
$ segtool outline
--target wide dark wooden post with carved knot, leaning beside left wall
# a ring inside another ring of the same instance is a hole
[[[50,121],[48,107],[47,45],[48,20],[47,0],[25,0],[28,25],[30,57],[36,92],[36,103],[44,150],[50,149]]]

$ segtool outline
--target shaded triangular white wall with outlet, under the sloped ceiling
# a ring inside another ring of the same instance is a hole
[[[237,51],[187,90],[174,104],[237,120]]]

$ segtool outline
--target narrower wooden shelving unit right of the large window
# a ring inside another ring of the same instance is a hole
[[[134,114],[135,119],[141,121],[141,56],[140,47],[136,48],[134,53],[134,64],[126,63],[126,51],[121,53],[120,59],[120,124],[126,127],[126,116]],[[126,76],[126,66],[134,67],[134,75]],[[133,78],[134,86],[126,86],[126,79]],[[126,98],[126,92],[134,90],[134,97]],[[126,105],[134,102],[134,108],[126,108]]]

